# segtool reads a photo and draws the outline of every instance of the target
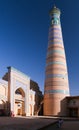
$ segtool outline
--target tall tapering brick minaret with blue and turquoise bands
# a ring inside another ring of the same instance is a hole
[[[48,50],[46,57],[44,115],[66,116],[66,100],[69,96],[68,72],[60,24],[60,10],[50,11]]]

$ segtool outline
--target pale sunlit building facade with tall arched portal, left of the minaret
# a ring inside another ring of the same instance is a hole
[[[30,82],[30,77],[8,67],[8,72],[0,79],[0,113],[15,116],[34,115],[36,92],[31,89]]]

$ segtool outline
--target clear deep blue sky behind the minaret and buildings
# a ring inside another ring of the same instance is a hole
[[[54,2],[55,1],[55,2]],[[0,0],[0,77],[13,66],[44,91],[49,10],[61,10],[71,95],[79,94],[79,0]]]

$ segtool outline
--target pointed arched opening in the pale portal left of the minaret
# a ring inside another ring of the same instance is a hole
[[[15,91],[15,115],[25,115],[25,92],[22,88]]]

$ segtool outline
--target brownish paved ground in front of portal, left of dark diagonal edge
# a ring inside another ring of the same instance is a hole
[[[43,117],[0,117],[0,130],[38,130],[53,122]]]

